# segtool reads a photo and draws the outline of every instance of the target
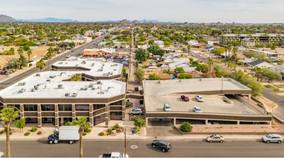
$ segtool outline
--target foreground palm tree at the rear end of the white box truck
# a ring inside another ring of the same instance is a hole
[[[87,122],[86,116],[79,116],[76,121],[72,122],[74,126],[79,127],[79,134],[80,134],[80,157],[83,157],[83,132],[84,127],[90,126],[91,123]]]

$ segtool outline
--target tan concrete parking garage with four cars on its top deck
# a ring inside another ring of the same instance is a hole
[[[253,99],[251,89],[233,79],[143,81],[143,88],[146,127],[169,125],[168,122],[178,127],[184,121],[202,128],[271,127],[272,116],[267,115],[260,104],[250,101]],[[188,95],[190,101],[183,102],[181,95]],[[197,102],[196,95],[203,95],[204,102]],[[165,103],[170,104],[171,111],[163,110]],[[193,112],[194,106],[199,106],[202,113]],[[219,121],[219,125],[211,125],[209,120]],[[252,122],[260,122],[260,125],[252,125]]]

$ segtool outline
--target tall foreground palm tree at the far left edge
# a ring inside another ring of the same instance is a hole
[[[8,107],[1,110],[0,113],[0,120],[5,121],[5,125],[7,126],[7,132],[6,132],[6,148],[7,148],[7,157],[11,157],[10,153],[10,123],[15,118],[18,118],[19,111],[14,111],[13,107]]]

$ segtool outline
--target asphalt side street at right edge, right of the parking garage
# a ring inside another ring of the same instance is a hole
[[[276,117],[280,118],[282,121],[284,121],[284,115],[283,115],[284,114],[284,97],[276,94],[273,91],[270,91],[266,87],[264,87],[264,91],[261,94],[265,98],[271,100],[272,102],[278,105],[278,107],[273,110],[273,114]]]

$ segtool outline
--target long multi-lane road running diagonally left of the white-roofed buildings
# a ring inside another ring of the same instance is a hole
[[[98,40],[103,40],[105,38],[105,36],[109,35],[109,33],[107,33],[106,35],[102,36],[102,37],[99,37],[95,40],[93,40],[92,42],[89,42],[87,44],[84,44],[82,45],[81,47],[79,48],[76,48],[76,49],[72,49],[72,51],[74,50],[74,52],[67,52],[67,53],[64,53],[64,55],[59,55],[59,56],[56,56],[54,58],[52,58],[50,60],[50,64],[49,64],[49,67],[48,67],[48,70],[51,70],[51,65],[58,62],[58,61],[64,61],[66,60],[66,55],[70,55],[70,56],[80,56],[79,54],[83,52],[83,50],[85,50],[85,48],[89,49],[91,47],[94,47],[94,43],[97,43]],[[47,65],[48,65],[48,61],[46,62],[46,68],[47,68]],[[42,71],[45,71],[45,69],[43,69]],[[20,80],[26,78],[27,76],[31,75],[31,74],[34,74],[34,73],[37,73],[37,72],[40,72],[40,70],[36,67],[34,68],[31,68],[25,72],[23,72],[22,74],[19,74],[19,75],[15,75],[13,77],[11,77],[9,80],[6,80],[2,83],[0,83],[0,91],[5,89],[6,87],[9,87],[11,84],[14,84],[16,82],[19,82]]]

